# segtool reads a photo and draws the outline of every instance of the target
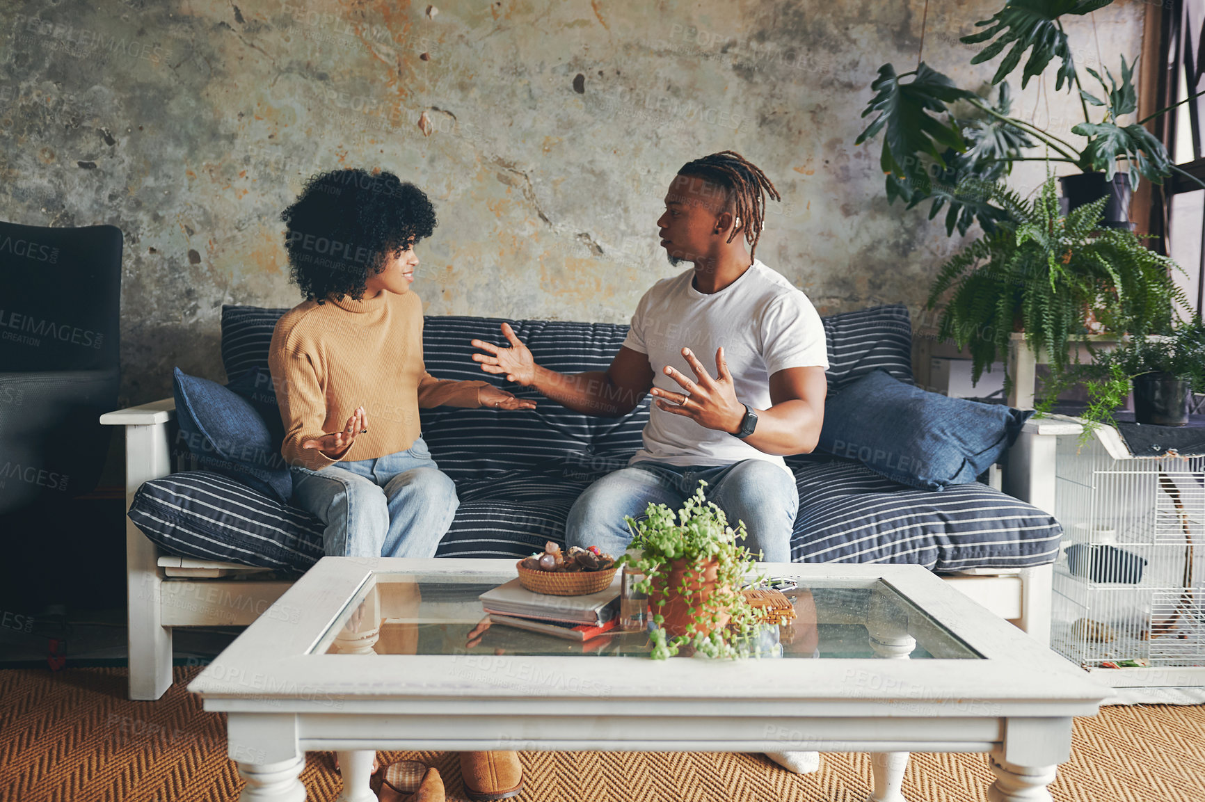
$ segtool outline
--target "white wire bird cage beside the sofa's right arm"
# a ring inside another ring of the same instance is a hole
[[[1057,447],[1052,648],[1117,686],[1205,684],[1178,670],[1205,666],[1205,455],[1077,441]]]

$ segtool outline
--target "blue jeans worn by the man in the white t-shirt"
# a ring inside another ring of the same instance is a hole
[[[631,541],[624,515],[645,518],[649,503],[681,509],[699,486],[728,517],[736,529],[745,521],[748,537],[741,544],[764,562],[790,562],[790,535],[799,493],[794,478],[766,460],[742,460],[733,465],[666,465],[642,460],[610,473],[586,489],[569,511],[565,543],[587,548],[596,546],[619,556]]]

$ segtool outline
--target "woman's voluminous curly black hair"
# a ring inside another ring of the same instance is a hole
[[[364,296],[369,276],[435,230],[427,194],[382,170],[311,176],[281,212],[289,275],[307,300]]]

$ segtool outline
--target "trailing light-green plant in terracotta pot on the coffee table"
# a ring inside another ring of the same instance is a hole
[[[682,647],[711,657],[747,656],[758,626],[739,592],[753,568],[748,549],[737,543],[745,524],[729,526],[724,511],[704,497],[705,485],[700,482],[677,513],[651,503],[642,520],[624,518],[633,539],[617,564],[645,577],[637,590],[648,594],[654,659]]]

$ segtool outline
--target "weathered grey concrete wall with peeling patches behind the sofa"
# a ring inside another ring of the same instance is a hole
[[[930,4],[924,58],[962,85],[1001,0]],[[954,248],[888,206],[854,147],[877,67],[915,66],[922,0],[37,0],[0,6],[0,218],[125,234],[123,395],[223,377],[222,303],[292,306],[280,210],[312,172],[380,166],[440,226],[430,313],[623,322],[671,275],[654,222],[675,170],[736,149],[777,184],[758,254],[822,313],[917,312]],[[1142,6],[1074,20],[1081,64],[1136,55]],[[425,55],[424,55],[425,54]],[[1066,134],[1078,102],[1016,110]],[[1013,81],[1015,87],[1017,82]],[[428,113],[429,135],[417,125]],[[1072,136],[1066,134],[1066,136]],[[1015,173],[1029,191],[1041,164]]]

